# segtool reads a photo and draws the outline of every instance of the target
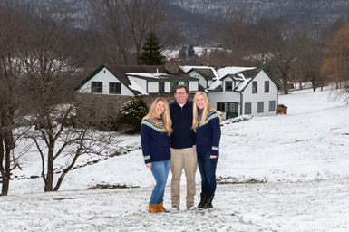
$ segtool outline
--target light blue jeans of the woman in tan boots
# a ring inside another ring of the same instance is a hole
[[[150,196],[150,204],[158,204],[163,202],[167,177],[170,171],[170,160],[151,162],[151,164],[152,167],[150,170],[154,176],[156,185]]]

